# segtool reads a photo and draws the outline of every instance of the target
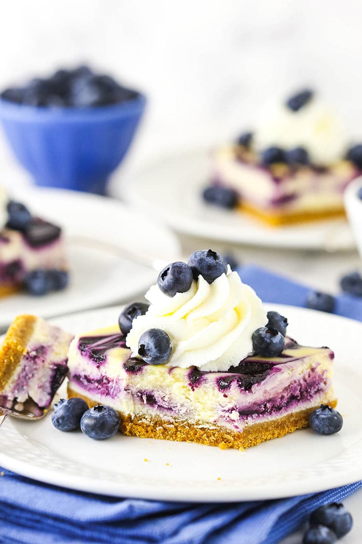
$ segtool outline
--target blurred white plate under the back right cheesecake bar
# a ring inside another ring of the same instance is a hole
[[[114,177],[109,192],[193,236],[291,249],[354,248],[344,219],[272,228],[244,213],[207,205],[200,195],[211,176],[209,153],[194,151],[161,159],[132,177]]]

